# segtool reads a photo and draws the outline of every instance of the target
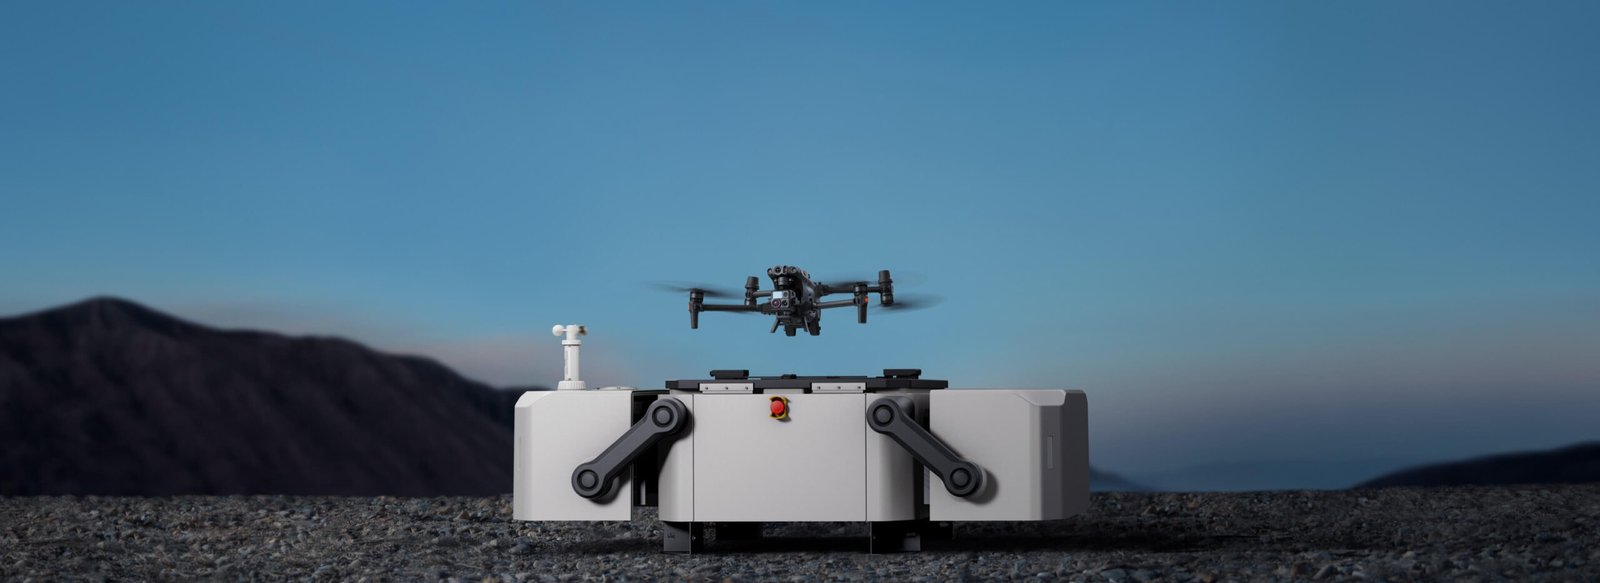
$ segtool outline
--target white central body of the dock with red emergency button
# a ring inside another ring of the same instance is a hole
[[[768,416],[789,399],[789,420]],[[926,391],[907,391],[926,418]],[[661,464],[661,519],[674,522],[909,521],[918,517],[914,461],[867,429],[866,394],[674,391],[691,431]]]

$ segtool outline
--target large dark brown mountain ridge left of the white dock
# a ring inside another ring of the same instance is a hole
[[[98,298],[0,319],[0,495],[504,493],[518,394]]]

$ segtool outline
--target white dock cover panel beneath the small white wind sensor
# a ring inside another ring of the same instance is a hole
[[[632,482],[622,474],[603,501],[573,492],[573,469],[632,426],[632,391],[528,391],[517,399],[512,517],[517,521],[629,521]]]

